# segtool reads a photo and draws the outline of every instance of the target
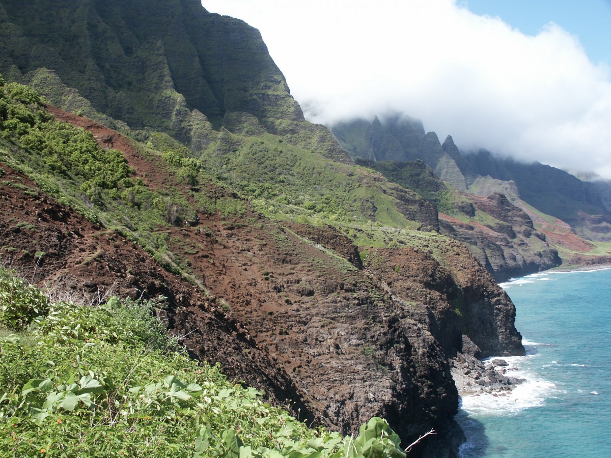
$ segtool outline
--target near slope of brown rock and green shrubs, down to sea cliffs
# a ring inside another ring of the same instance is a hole
[[[352,432],[381,415],[406,442],[434,427],[415,456],[452,456],[461,432],[446,358],[464,350],[463,333],[484,354],[524,351],[507,296],[443,236],[353,225],[357,239],[397,246],[390,258],[361,248],[362,269],[348,237],[252,212],[180,150],[45,107],[26,87],[1,89],[3,262],[71,294],[164,294],[168,327],[194,356],[290,399],[300,418]],[[227,144],[213,140],[222,156]],[[384,186],[371,195],[393,189]],[[397,265],[409,276],[421,264],[430,269],[391,286]]]

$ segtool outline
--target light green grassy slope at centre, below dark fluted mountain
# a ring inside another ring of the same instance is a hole
[[[386,181],[271,134],[244,138],[225,131],[203,151],[202,163],[255,210],[274,219],[340,224],[373,217],[383,225],[415,227],[398,210],[400,202]],[[371,214],[365,215],[367,209]]]

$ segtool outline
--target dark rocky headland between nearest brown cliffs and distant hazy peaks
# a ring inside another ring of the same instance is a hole
[[[557,250],[547,242],[546,234],[535,228],[534,215],[525,213],[504,194],[492,191],[499,186],[498,181],[488,180],[487,184],[486,180],[476,181],[486,191],[483,194],[490,193],[488,197],[477,197],[448,186],[420,160],[356,159],[356,163],[378,170],[389,180],[434,203],[439,209],[438,230],[469,246],[475,258],[499,282],[562,263]],[[502,190],[516,195],[511,186]]]

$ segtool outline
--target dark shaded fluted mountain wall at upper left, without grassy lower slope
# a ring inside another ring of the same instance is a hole
[[[197,0],[3,0],[0,21],[0,73],[57,106],[164,131],[193,150],[225,126],[349,161],[327,129],[304,122],[259,32]]]

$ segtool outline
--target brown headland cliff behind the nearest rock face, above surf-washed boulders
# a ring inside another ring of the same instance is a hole
[[[368,249],[365,266],[447,357],[463,352],[463,334],[481,357],[524,354],[514,305],[466,248],[431,239],[425,249]]]

